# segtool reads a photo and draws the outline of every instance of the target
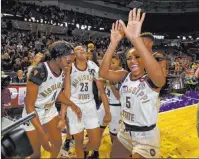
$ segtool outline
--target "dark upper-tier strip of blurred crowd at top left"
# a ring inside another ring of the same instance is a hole
[[[34,3],[23,3],[13,0],[2,0],[2,13],[10,13],[13,15],[20,15],[24,18],[43,19],[48,24],[53,23],[78,23],[80,25],[87,25],[93,27],[103,27],[105,30],[110,29],[114,20],[108,18],[101,18],[91,16],[85,13],[75,12],[73,10],[61,10],[58,6],[38,6]]]

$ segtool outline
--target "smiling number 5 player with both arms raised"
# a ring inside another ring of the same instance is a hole
[[[127,27],[119,20],[112,25],[111,42],[100,65],[100,76],[114,82],[123,81],[120,102],[123,125],[112,148],[112,158],[155,158],[160,149],[160,135],[156,126],[158,89],[165,83],[161,66],[144,45],[141,27],[145,13],[133,9]],[[130,72],[109,70],[111,58],[123,35],[135,47],[127,52]],[[146,72],[145,72],[146,71]],[[146,74],[147,73],[147,74]]]

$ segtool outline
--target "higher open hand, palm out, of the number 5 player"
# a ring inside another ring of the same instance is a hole
[[[122,20],[119,20],[122,29],[124,30],[125,36],[130,40],[134,41],[140,37],[142,23],[144,22],[145,13],[141,16],[141,9],[134,8],[129,12],[127,27]]]

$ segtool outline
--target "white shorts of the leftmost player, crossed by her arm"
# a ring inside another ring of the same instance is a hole
[[[38,108],[35,108],[35,110],[38,114],[39,121],[41,122],[41,125],[48,123],[54,117],[58,116],[57,108],[55,106],[53,106],[52,108],[50,108],[48,110],[38,109]],[[27,113],[26,113],[26,109],[24,107],[23,112],[22,112],[22,117],[25,117],[26,115],[27,115]],[[32,125],[31,122],[27,122],[26,124],[22,125],[21,127],[23,127],[25,129],[25,131],[35,130],[35,127]]]

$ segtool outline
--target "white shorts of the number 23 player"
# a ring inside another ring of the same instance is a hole
[[[77,115],[71,110],[71,108],[67,108],[67,118],[71,135],[80,133],[84,129],[95,129],[100,126],[94,99],[87,103],[75,104],[82,111],[82,119],[79,121]]]

